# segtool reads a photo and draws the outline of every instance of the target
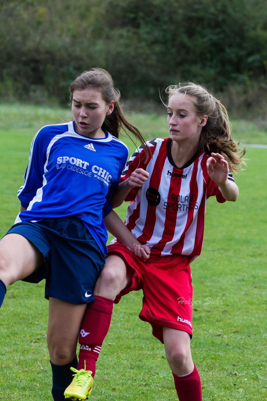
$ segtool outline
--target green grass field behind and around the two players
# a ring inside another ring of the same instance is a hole
[[[151,137],[167,135],[164,116],[133,118]],[[0,105],[0,235],[18,213],[16,191],[32,137],[60,119],[65,110]],[[233,122],[233,137],[267,144],[266,132],[245,122]],[[203,251],[191,265],[191,346],[205,401],[266,397],[267,149],[248,148],[247,159],[246,170],[235,175],[238,201],[207,202]],[[122,218],[125,208],[117,209]],[[0,400],[52,400],[43,294],[44,282],[8,288],[0,314]],[[177,400],[163,345],[138,318],[141,305],[141,292],[134,292],[114,307],[90,400]]]

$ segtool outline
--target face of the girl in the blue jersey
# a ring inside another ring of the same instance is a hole
[[[72,97],[71,111],[76,132],[89,138],[104,138],[101,126],[106,115],[112,113],[114,101],[107,104],[102,93],[93,87],[75,89]]]

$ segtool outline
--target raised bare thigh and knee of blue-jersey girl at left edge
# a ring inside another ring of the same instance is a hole
[[[0,277],[6,286],[30,275],[42,262],[42,253],[22,235],[10,233],[1,239]]]

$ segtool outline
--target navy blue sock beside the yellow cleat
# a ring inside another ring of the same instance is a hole
[[[73,377],[73,372],[70,370],[71,367],[78,367],[78,359],[77,356],[72,360],[72,362],[67,363],[66,365],[54,365],[50,361],[52,368],[52,396],[54,401],[66,401],[64,397],[64,391],[71,383]]]

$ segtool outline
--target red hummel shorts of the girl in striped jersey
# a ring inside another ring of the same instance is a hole
[[[151,256],[143,262],[126,246],[108,245],[108,255],[118,254],[125,262],[132,281],[115,299],[130,291],[143,290],[139,318],[149,322],[153,336],[163,343],[163,326],[183,330],[192,336],[191,270],[186,255]]]

